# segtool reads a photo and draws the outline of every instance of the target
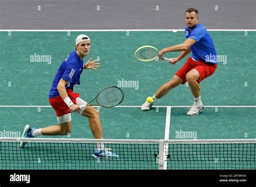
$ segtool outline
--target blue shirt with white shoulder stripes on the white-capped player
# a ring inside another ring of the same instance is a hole
[[[75,84],[80,84],[80,74],[83,71],[83,60],[80,60],[76,51],[73,51],[66,57],[66,59],[60,65],[57,74],[54,77],[52,87],[50,89],[49,98],[59,96],[57,90],[57,85],[60,79],[68,81],[68,84],[65,85],[66,89],[72,89]]]

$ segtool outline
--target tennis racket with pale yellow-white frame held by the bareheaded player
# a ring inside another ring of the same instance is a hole
[[[153,46],[142,46],[142,47],[139,47],[135,51],[134,56],[136,57],[136,59],[138,59],[139,61],[143,61],[143,62],[150,62],[153,60],[157,60],[158,59],[158,49]],[[167,59],[165,57],[162,57],[160,60],[172,62],[171,59]]]

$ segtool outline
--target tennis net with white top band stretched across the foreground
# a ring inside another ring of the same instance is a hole
[[[19,148],[19,142],[28,142]],[[104,143],[118,158],[94,157]],[[256,169],[256,139],[0,138],[0,169]]]

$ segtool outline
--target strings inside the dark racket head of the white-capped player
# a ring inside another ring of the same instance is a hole
[[[102,106],[116,106],[123,100],[123,92],[117,87],[110,87],[99,93],[97,102]]]

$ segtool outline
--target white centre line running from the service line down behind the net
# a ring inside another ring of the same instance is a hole
[[[168,106],[167,110],[166,110],[164,140],[169,140],[170,122],[171,122],[171,110],[172,110],[172,107]],[[165,143],[165,145],[164,145],[164,169],[167,169],[168,146],[169,146],[168,143]]]

